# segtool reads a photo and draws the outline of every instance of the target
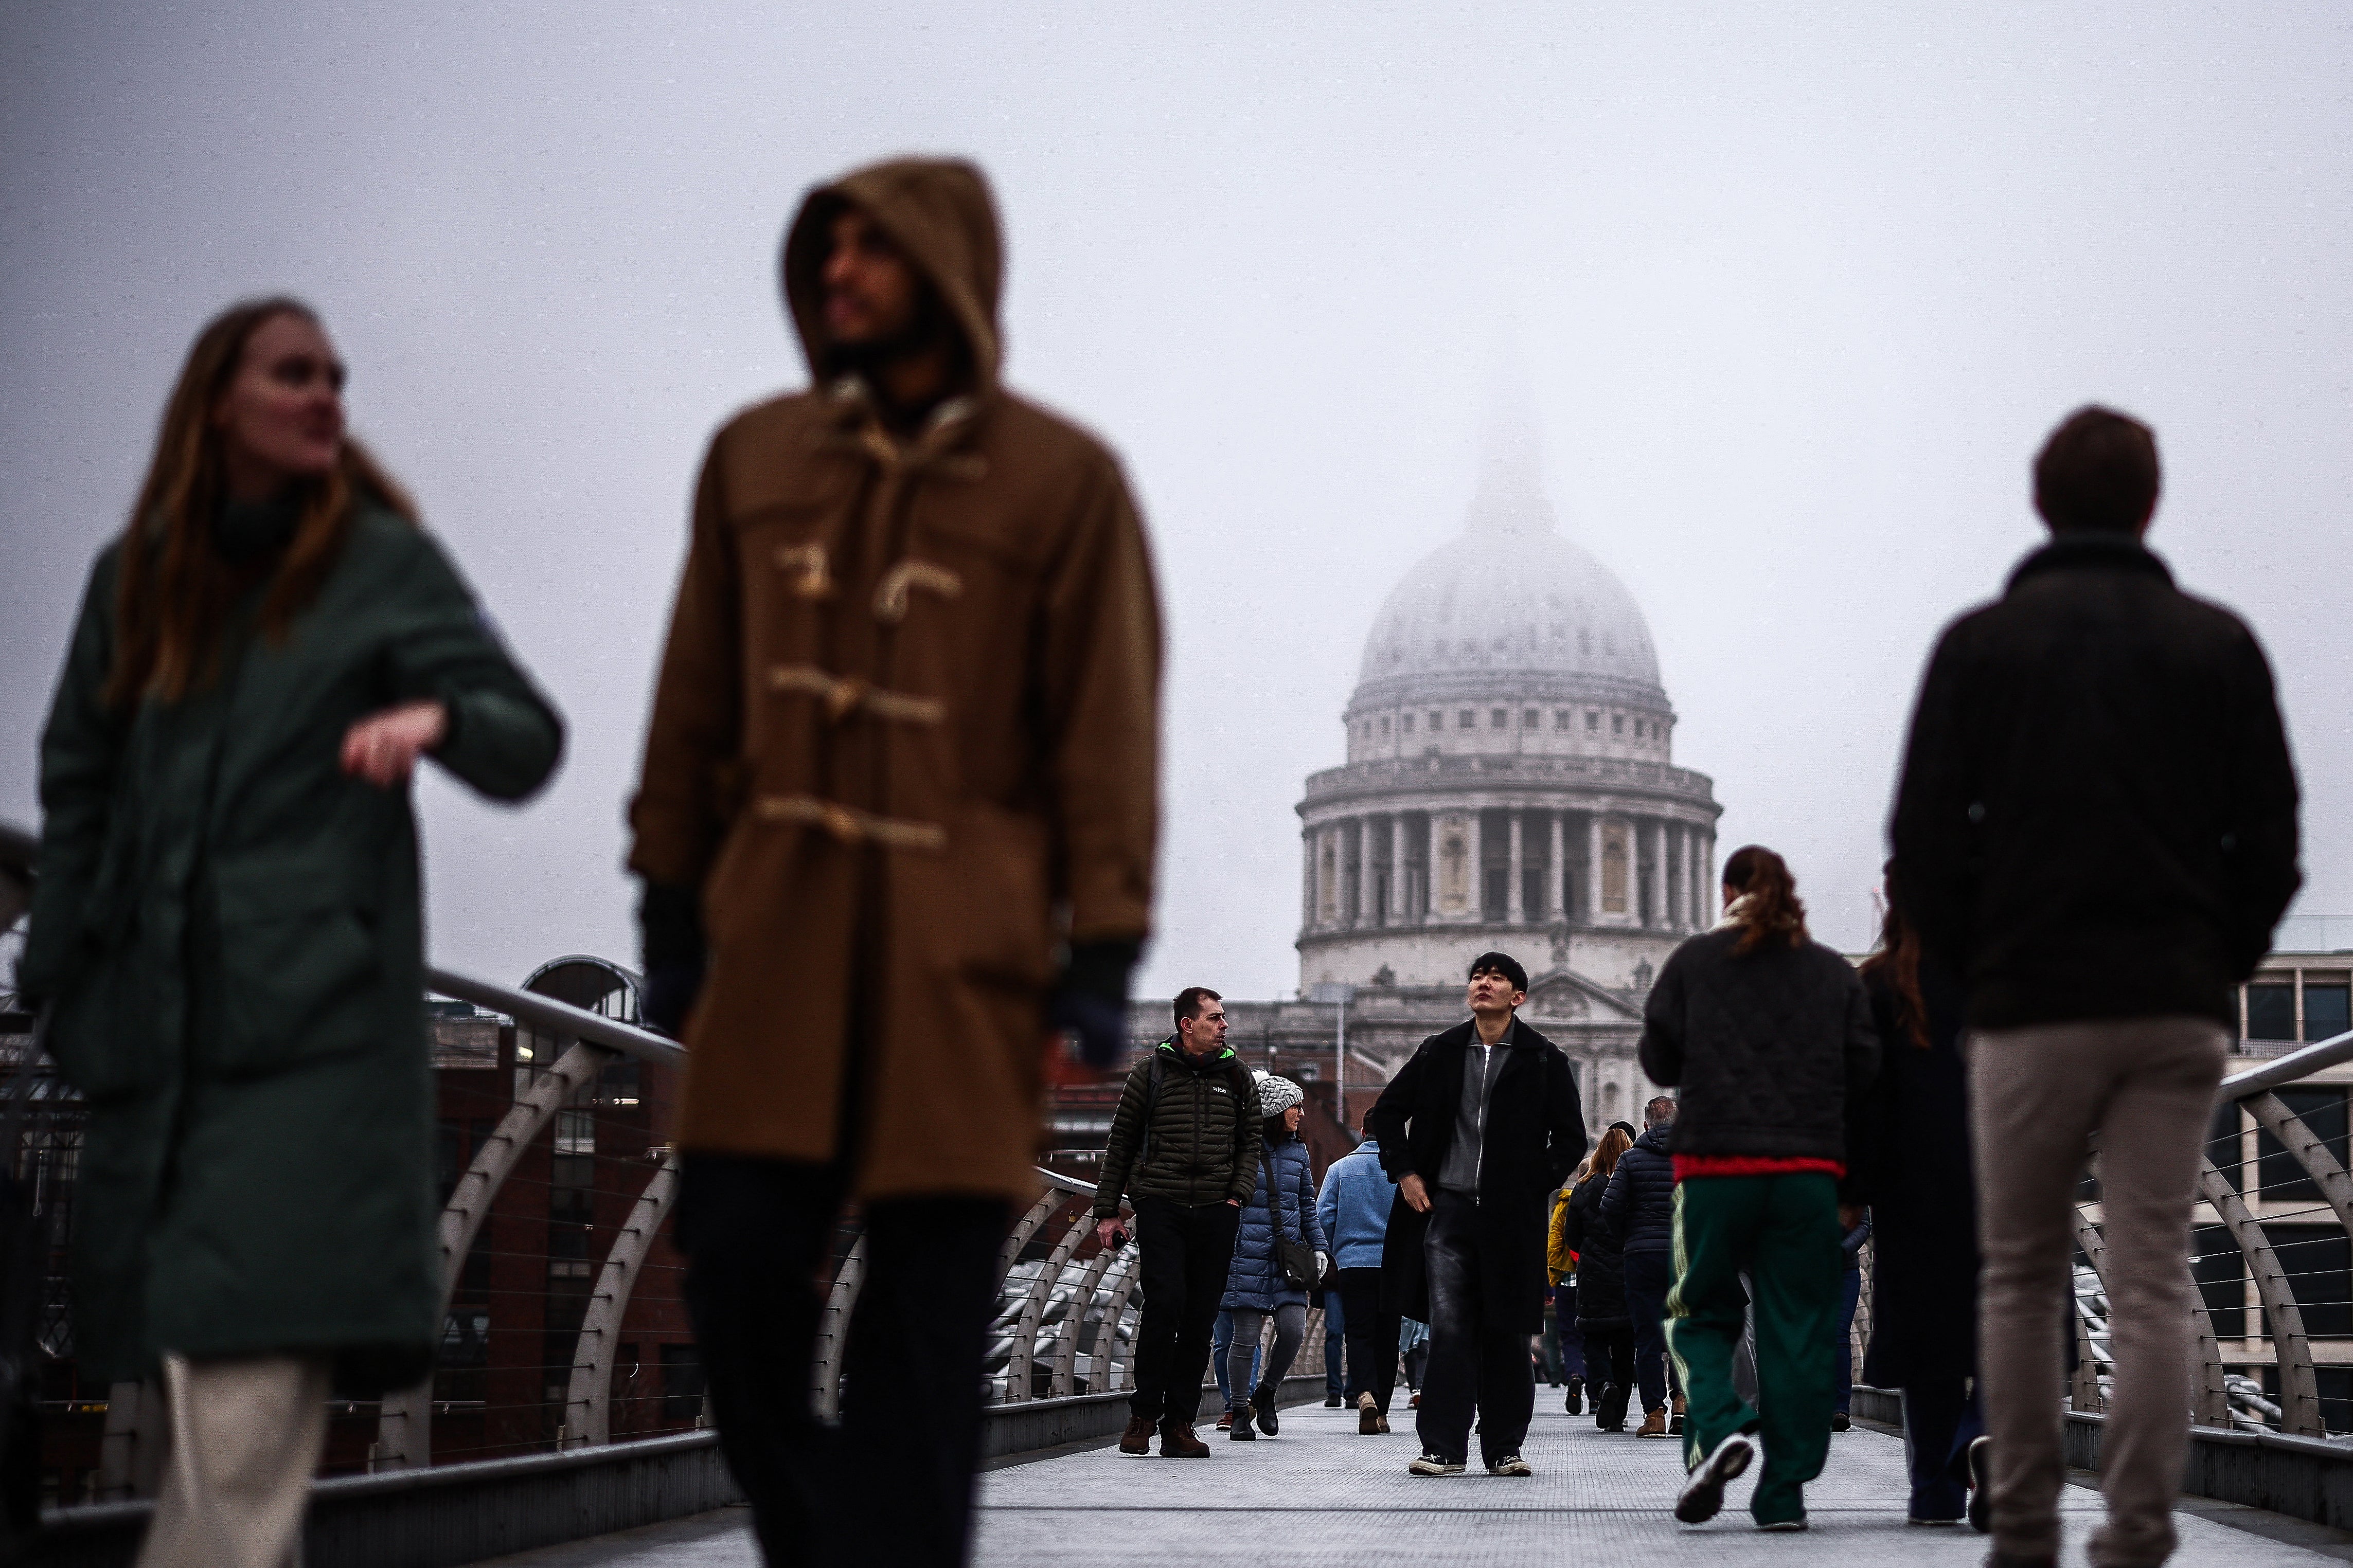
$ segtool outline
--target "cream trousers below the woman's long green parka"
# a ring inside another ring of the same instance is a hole
[[[162,1359],[169,1439],[139,1568],[301,1568],[327,1356]]]

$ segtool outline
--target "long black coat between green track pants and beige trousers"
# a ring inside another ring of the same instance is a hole
[[[1977,1187],[1969,1175],[1969,1077],[1960,1060],[1962,994],[1934,957],[1920,961],[1927,1048],[1897,1023],[1894,990],[1873,976],[1871,1016],[1885,1053],[1864,1100],[1852,1185],[1871,1204],[1871,1354],[1864,1380],[1904,1387],[1977,1375]]]

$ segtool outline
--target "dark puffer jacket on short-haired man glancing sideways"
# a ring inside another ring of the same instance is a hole
[[[1127,1072],[1111,1112],[1094,1213],[1120,1213],[1122,1192],[1191,1206],[1247,1204],[1259,1190],[1261,1138],[1259,1091],[1242,1058],[1231,1046],[1193,1058],[1162,1039]]]

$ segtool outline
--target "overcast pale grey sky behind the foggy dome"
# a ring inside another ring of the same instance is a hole
[[[2346,5],[0,0],[0,816],[191,334],[292,289],[572,719],[520,811],[421,788],[435,959],[628,959],[692,470],[802,381],[784,219],[953,150],[1009,228],[1009,381],[1122,451],[1162,571],[1139,992],[1297,985],[1292,806],[1513,357],[1720,844],[1788,853],[1826,940],[1868,938],[1925,651],[2085,400],[2158,428],[2151,543],[2280,675],[2297,912],[2353,914],[2346,82]]]

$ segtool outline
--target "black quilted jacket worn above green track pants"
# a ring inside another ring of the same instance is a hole
[[[1642,1072],[1682,1091],[1668,1147],[1845,1164],[1880,1065],[1864,983],[1821,943],[1739,940],[1725,926],[1675,947],[1642,1006]]]

